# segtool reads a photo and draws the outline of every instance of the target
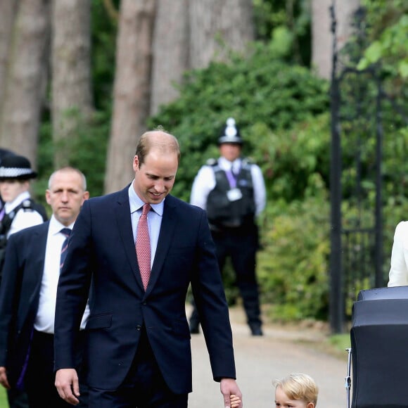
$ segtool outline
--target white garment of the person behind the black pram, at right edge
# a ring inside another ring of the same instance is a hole
[[[408,285],[408,221],[395,228],[388,286]]]

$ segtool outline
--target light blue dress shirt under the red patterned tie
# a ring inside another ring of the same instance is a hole
[[[132,219],[132,231],[133,231],[133,241],[136,245],[137,236],[137,224],[139,224],[139,218],[141,216],[141,211],[144,202],[139,198],[134,191],[133,182],[129,186],[129,205],[130,205],[130,217]],[[150,238],[150,248],[151,248],[151,267],[153,267],[153,261],[158,248],[158,240],[160,234],[160,227],[162,225],[163,209],[165,206],[165,200],[162,200],[159,204],[152,204],[151,210],[148,212],[147,224],[148,224],[148,236]]]

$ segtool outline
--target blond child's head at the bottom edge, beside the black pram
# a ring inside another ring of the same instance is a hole
[[[289,374],[275,380],[276,408],[315,408],[319,390],[311,376],[302,373]]]

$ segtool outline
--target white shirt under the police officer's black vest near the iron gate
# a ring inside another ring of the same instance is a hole
[[[234,162],[230,162],[226,158],[220,157],[218,159],[218,165],[225,172],[232,170],[235,174],[238,174],[242,167],[242,159],[237,158]],[[260,215],[265,208],[267,193],[260,167],[251,163],[250,174],[253,179],[255,216],[257,216]],[[215,188],[215,183],[215,174],[212,166],[204,165],[201,167],[193,182],[190,203],[206,210],[208,194]]]

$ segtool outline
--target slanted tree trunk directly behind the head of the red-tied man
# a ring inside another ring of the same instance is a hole
[[[155,6],[155,0],[122,0],[120,4],[106,193],[131,180],[136,143],[146,130]]]

